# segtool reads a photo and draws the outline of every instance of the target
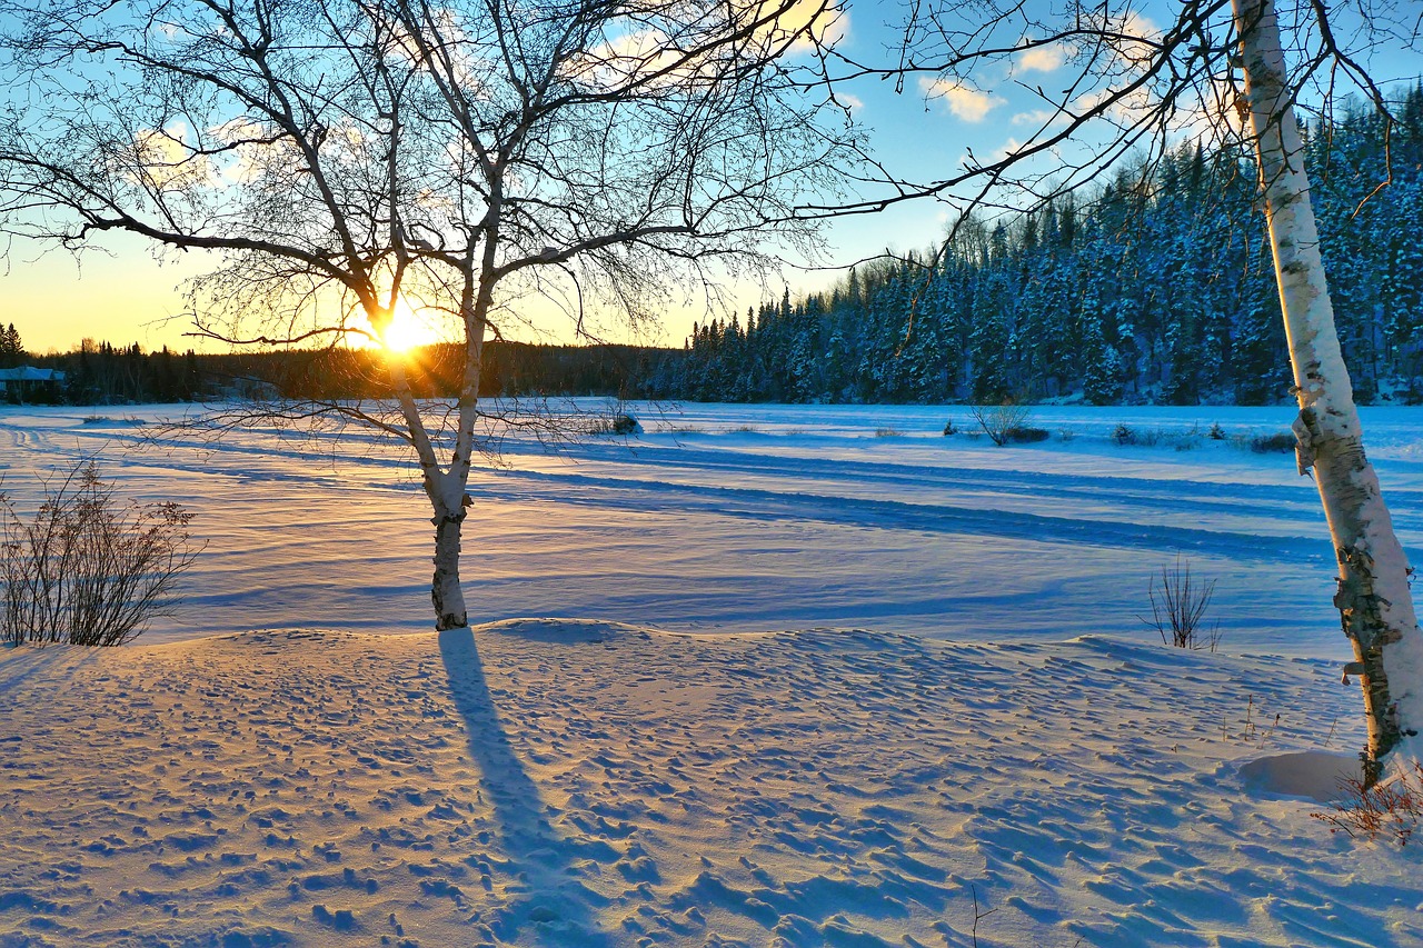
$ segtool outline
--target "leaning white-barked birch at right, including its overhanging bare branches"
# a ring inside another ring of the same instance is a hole
[[[1022,208],[1093,181],[1128,155],[1150,159],[1191,139],[1225,139],[1257,155],[1299,401],[1299,473],[1318,481],[1339,564],[1335,605],[1356,655],[1345,678],[1362,680],[1372,781],[1390,753],[1423,756],[1423,632],[1409,591],[1412,571],[1365,457],[1294,108],[1313,95],[1328,110],[1342,88],[1352,88],[1387,121],[1386,90],[1358,50],[1416,54],[1420,21],[1387,0],[1329,7],[1298,0],[1291,3],[1286,50],[1275,7],[1275,0],[1184,0],[1158,26],[1151,16],[1167,9],[1133,0],[1069,1],[1050,16],[1022,1],[915,1],[899,61],[851,61],[834,50],[830,58],[838,67],[832,81],[894,75],[902,84],[919,74],[929,95],[986,95],[992,90],[980,77],[1007,75],[1040,105],[1023,142],[983,159],[970,154],[936,181],[899,181],[855,211],[924,195],[961,209]],[[1294,71],[1285,67],[1286,51],[1298,58]],[[1015,65],[1027,57],[1067,65],[1066,81],[1054,70],[1050,90],[1026,83]],[[1385,159],[1380,186],[1387,171]]]

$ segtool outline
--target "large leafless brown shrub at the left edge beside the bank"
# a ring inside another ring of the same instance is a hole
[[[0,641],[132,641],[176,605],[191,520],[181,504],[120,502],[94,461],[47,483],[28,521],[0,494]]]

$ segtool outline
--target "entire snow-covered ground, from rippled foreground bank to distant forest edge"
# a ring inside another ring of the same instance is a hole
[[[1286,409],[632,409],[475,475],[441,636],[398,453],[0,409],[21,508],[97,453],[208,544],[0,656],[0,945],[1423,944],[1419,848],[1309,818],[1362,716]],[[1365,410],[1414,562],[1420,421]],[[1221,653],[1137,618],[1177,554]]]

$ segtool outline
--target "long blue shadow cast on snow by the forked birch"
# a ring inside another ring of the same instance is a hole
[[[596,920],[596,905],[605,900],[578,881],[572,868],[573,844],[549,824],[538,784],[505,736],[474,633],[440,632],[440,658],[504,848],[502,863],[490,853],[490,870],[507,874],[502,883],[509,900],[482,918],[499,939],[514,939],[525,931],[535,932],[539,944],[612,945]],[[495,878],[495,885],[499,883]]]

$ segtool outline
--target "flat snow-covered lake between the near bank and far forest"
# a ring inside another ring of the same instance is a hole
[[[596,406],[589,400],[585,406]],[[471,621],[596,618],[669,631],[868,628],[953,641],[1154,639],[1150,576],[1218,582],[1224,648],[1343,658],[1312,481],[1245,441],[1288,407],[1036,407],[1039,444],[943,437],[962,406],[633,404],[638,437],[502,440],[465,522]],[[182,611],[145,641],[279,628],[430,628],[414,464],[366,437],[275,430],[135,450],[188,406],[0,409],[4,488],[98,455],[125,495],[179,500],[206,542]],[[1423,411],[1365,409],[1412,559]],[[1138,441],[1111,434],[1126,424]],[[1225,440],[1207,436],[1218,424]]]

